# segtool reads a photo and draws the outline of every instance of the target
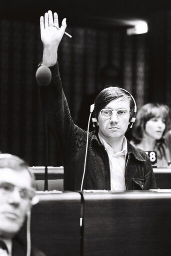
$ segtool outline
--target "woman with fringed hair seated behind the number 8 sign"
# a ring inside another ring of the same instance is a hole
[[[144,151],[156,151],[157,167],[160,168],[171,163],[169,123],[168,106],[148,103],[139,109],[132,129],[131,144]]]

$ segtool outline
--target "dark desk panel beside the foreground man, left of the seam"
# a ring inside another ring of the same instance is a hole
[[[40,201],[31,210],[31,244],[46,256],[80,256],[80,194],[37,193]],[[25,233],[24,226],[20,235]]]

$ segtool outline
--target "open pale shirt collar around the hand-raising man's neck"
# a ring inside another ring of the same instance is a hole
[[[111,155],[124,155],[126,157],[126,154],[127,154],[127,140],[125,138],[125,136],[123,137],[123,142],[122,142],[122,149],[121,151],[119,152],[116,152],[116,153],[113,153],[113,150],[112,148],[110,147],[110,145],[99,135],[99,132],[98,132],[98,137],[99,137],[99,140],[101,142],[101,144],[104,146],[105,150],[107,151],[107,153],[111,154]]]

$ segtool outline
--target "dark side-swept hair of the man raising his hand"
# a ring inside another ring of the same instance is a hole
[[[115,100],[121,98],[124,100],[126,98],[129,99],[130,103],[130,118],[129,121],[132,119],[134,114],[134,102],[129,92],[125,91],[122,88],[110,86],[103,89],[95,98],[94,101],[94,116],[98,120],[98,114],[101,109],[103,109],[111,100]]]

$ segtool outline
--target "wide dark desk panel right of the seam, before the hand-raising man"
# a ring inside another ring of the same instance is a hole
[[[171,193],[82,193],[83,256],[171,253]]]

